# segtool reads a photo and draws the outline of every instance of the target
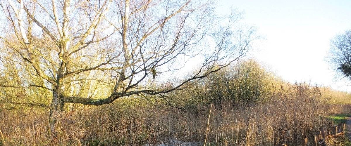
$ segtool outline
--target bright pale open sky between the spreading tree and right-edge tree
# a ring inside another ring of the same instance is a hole
[[[325,61],[330,40],[351,29],[351,0],[222,0],[244,12],[265,37],[253,56],[289,82],[306,81],[351,91]]]

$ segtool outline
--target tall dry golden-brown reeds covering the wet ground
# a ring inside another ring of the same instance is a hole
[[[320,88],[284,85],[261,103],[221,102],[212,109],[207,141],[211,145],[312,144],[325,116],[350,107],[331,104]],[[122,99],[123,100],[123,99]],[[168,139],[204,141],[210,105],[191,109],[114,105],[96,106],[61,116],[59,136],[49,137],[46,110],[1,111],[0,128],[10,145],[157,145]],[[161,105],[159,105],[161,106]]]

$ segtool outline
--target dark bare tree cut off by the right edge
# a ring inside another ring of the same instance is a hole
[[[337,72],[351,79],[351,30],[331,41],[329,62]]]

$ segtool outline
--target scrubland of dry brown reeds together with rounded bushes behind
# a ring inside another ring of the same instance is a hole
[[[172,145],[177,139],[190,145],[203,144],[207,131],[207,145],[300,145],[304,138],[312,145],[328,116],[350,114],[350,98],[324,86],[287,83],[250,59],[163,97],[67,104],[54,115],[60,119],[55,131],[48,131],[46,108],[2,110],[0,144]]]

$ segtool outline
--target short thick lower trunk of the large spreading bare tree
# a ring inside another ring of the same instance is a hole
[[[53,96],[49,113],[49,126],[52,137],[55,137],[57,133],[56,126],[59,122],[58,118],[60,118],[59,114],[63,111],[65,102],[63,96],[61,96],[59,89],[54,89],[52,91],[52,95]]]

